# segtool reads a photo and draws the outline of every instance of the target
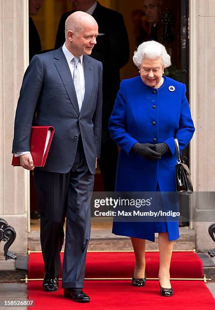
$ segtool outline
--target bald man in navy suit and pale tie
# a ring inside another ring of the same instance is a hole
[[[62,287],[64,296],[78,302],[90,301],[82,288],[90,192],[101,140],[102,64],[89,57],[97,34],[95,19],[75,12],[66,20],[63,47],[32,58],[20,91],[12,150],[24,169],[33,170],[29,142],[35,109],[35,126],[55,127],[45,166],[34,169],[45,264],[43,289],[58,290],[67,216]]]

